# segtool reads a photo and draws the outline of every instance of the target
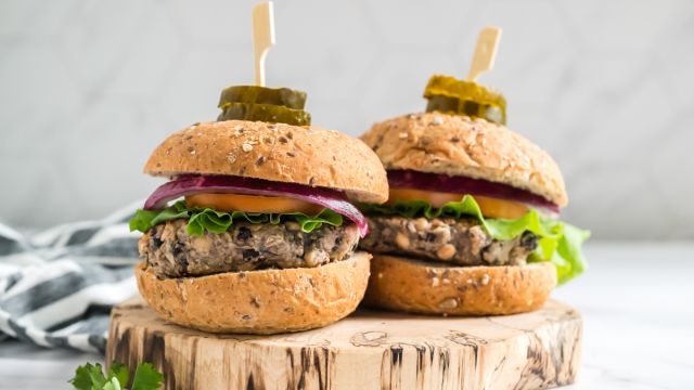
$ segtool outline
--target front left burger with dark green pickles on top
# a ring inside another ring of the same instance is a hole
[[[371,255],[352,205],[388,186],[361,141],[309,126],[305,94],[224,90],[219,121],[178,131],[144,172],[169,178],[130,222],[140,292],[165,320],[214,333],[331,324],[363,297]],[[280,122],[280,120],[282,122]]]

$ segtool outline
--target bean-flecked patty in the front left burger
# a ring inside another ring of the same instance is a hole
[[[187,221],[152,227],[140,238],[140,256],[158,277],[201,276],[262,269],[313,268],[349,257],[359,242],[356,225],[304,233],[296,222],[234,222],[221,234],[191,236]]]

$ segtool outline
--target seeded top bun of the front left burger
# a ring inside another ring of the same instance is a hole
[[[229,174],[344,191],[350,199],[384,203],[388,180],[378,157],[335,130],[247,120],[202,122],[164,140],[144,173]]]

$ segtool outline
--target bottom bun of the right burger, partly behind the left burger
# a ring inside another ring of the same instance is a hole
[[[551,262],[450,266],[374,255],[364,303],[421,314],[513,314],[542,307],[554,286]]]

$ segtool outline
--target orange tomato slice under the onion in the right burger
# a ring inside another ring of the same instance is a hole
[[[474,195],[475,202],[479,205],[483,216],[488,218],[505,218],[516,219],[528,212],[528,207],[522,203],[499,199],[488,196]],[[410,190],[410,188],[390,188],[388,204],[396,200],[425,200],[429,205],[439,208],[447,202],[460,202],[462,194]]]

